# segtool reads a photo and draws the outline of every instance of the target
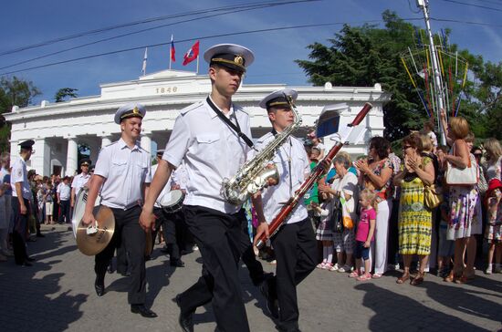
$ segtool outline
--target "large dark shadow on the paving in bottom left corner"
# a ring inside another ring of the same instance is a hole
[[[59,281],[64,274],[37,277],[38,272],[49,271],[61,262],[39,260],[72,250],[71,246],[62,247],[63,236],[66,236],[65,232],[56,231],[46,233],[46,237],[36,243],[28,243],[28,253],[37,259],[33,266],[15,265],[13,259],[0,265],[0,312],[8,312],[8,318],[2,319],[1,330],[63,331],[82,316],[80,306],[87,300],[87,295],[72,294],[69,289],[56,296],[61,291]]]

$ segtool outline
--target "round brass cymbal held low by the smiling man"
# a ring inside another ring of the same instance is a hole
[[[115,217],[108,206],[99,206],[95,214],[98,221],[98,232],[88,235],[88,226],[78,223],[77,247],[82,254],[89,256],[99,254],[108,244],[115,231]]]

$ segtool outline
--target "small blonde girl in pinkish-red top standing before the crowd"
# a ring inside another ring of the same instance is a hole
[[[361,217],[357,224],[356,233],[356,269],[350,273],[350,278],[358,281],[371,279],[370,244],[375,233],[376,211],[373,207],[376,194],[369,189],[364,189],[359,197]],[[364,260],[364,274],[361,271]]]

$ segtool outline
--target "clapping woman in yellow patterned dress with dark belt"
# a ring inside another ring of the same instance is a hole
[[[394,178],[394,184],[401,187],[399,207],[399,254],[403,256],[403,275],[397,284],[410,279],[410,265],[413,254],[420,258],[418,274],[410,282],[420,285],[424,282],[424,269],[431,254],[433,232],[432,209],[425,204],[425,186],[434,183],[434,165],[430,157],[422,156],[422,140],[418,134],[403,139],[403,171]]]

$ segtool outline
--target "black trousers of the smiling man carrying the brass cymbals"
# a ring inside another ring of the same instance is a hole
[[[115,232],[110,244],[96,255],[94,271],[98,278],[104,279],[115,248],[123,246],[129,253],[128,265],[131,268],[131,285],[127,299],[131,305],[142,305],[146,298],[144,258],[146,235],[139,223],[141,207],[137,205],[129,210],[111,209],[111,211],[115,217]]]

